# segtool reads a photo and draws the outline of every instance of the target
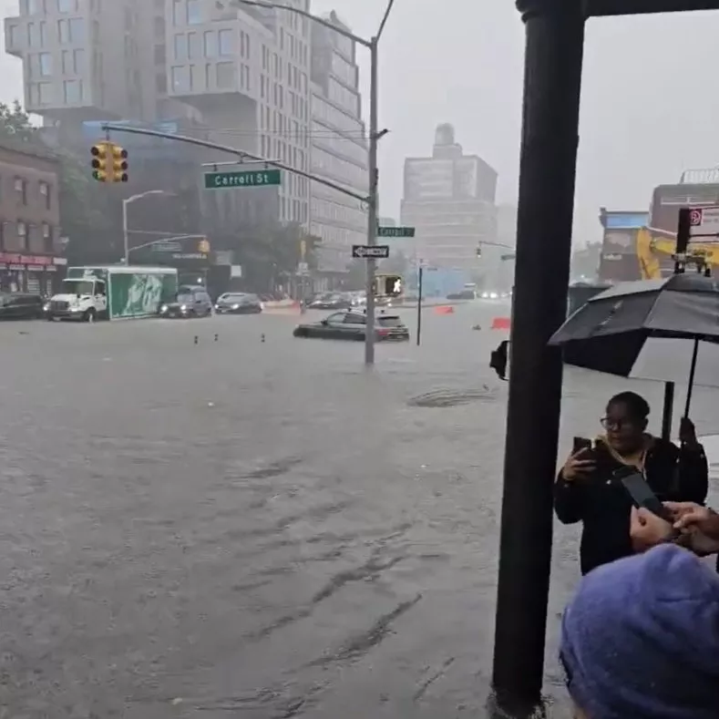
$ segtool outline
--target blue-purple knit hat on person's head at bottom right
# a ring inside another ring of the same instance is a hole
[[[719,576],[673,545],[591,571],[560,659],[590,719],[717,719]]]

